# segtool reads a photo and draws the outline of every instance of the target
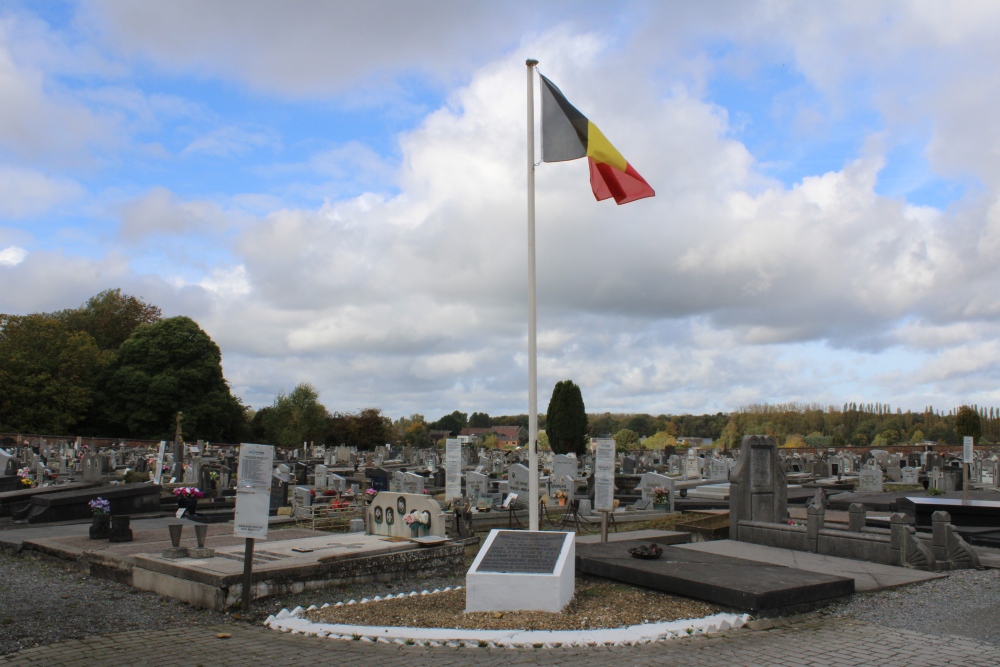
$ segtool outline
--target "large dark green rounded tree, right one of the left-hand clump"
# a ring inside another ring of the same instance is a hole
[[[186,438],[239,442],[245,408],[222,375],[222,353],[189,317],[139,327],[98,378],[97,423],[112,437],[171,439],[184,413]]]

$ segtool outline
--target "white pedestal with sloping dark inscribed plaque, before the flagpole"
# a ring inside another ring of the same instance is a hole
[[[465,579],[466,611],[550,611],[573,599],[575,533],[491,530]]]

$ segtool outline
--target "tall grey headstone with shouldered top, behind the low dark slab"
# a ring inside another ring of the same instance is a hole
[[[786,521],[788,483],[774,438],[743,436],[740,455],[729,472],[729,539],[739,539],[741,520]]]

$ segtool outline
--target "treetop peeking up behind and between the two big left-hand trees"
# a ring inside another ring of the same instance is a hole
[[[159,321],[162,313],[154,305],[122,294],[121,288],[104,290],[79,308],[61,310],[50,317],[74,331],[85,331],[101,350],[117,350],[143,324]]]

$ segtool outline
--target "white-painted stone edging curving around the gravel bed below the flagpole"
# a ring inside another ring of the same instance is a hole
[[[368,604],[392,598],[434,595],[451,590],[461,590],[461,586],[443,591],[413,591],[382,598],[363,598],[361,601],[338,602],[336,607],[352,604]],[[604,628],[591,630],[461,630],[458,628],[409,628],[378,627],[370,625],[340,625],[334,623],[314,623],[302,614],[323,607],[312,605],[308,609],[296,607],[289,611],[282,609],[276,615],[268,616],[264,625],[279,632],[326,637],[367,644],[400,644],[403,646],[448,646],[465,648],[559,648],[570,646],[635,646],[651,642],[669,641],[692,635],[706,635],[724,632],[746,625],[748,614],[715,614],[704,618],[684,619],[667,623],[645,623],[626,628]]]

